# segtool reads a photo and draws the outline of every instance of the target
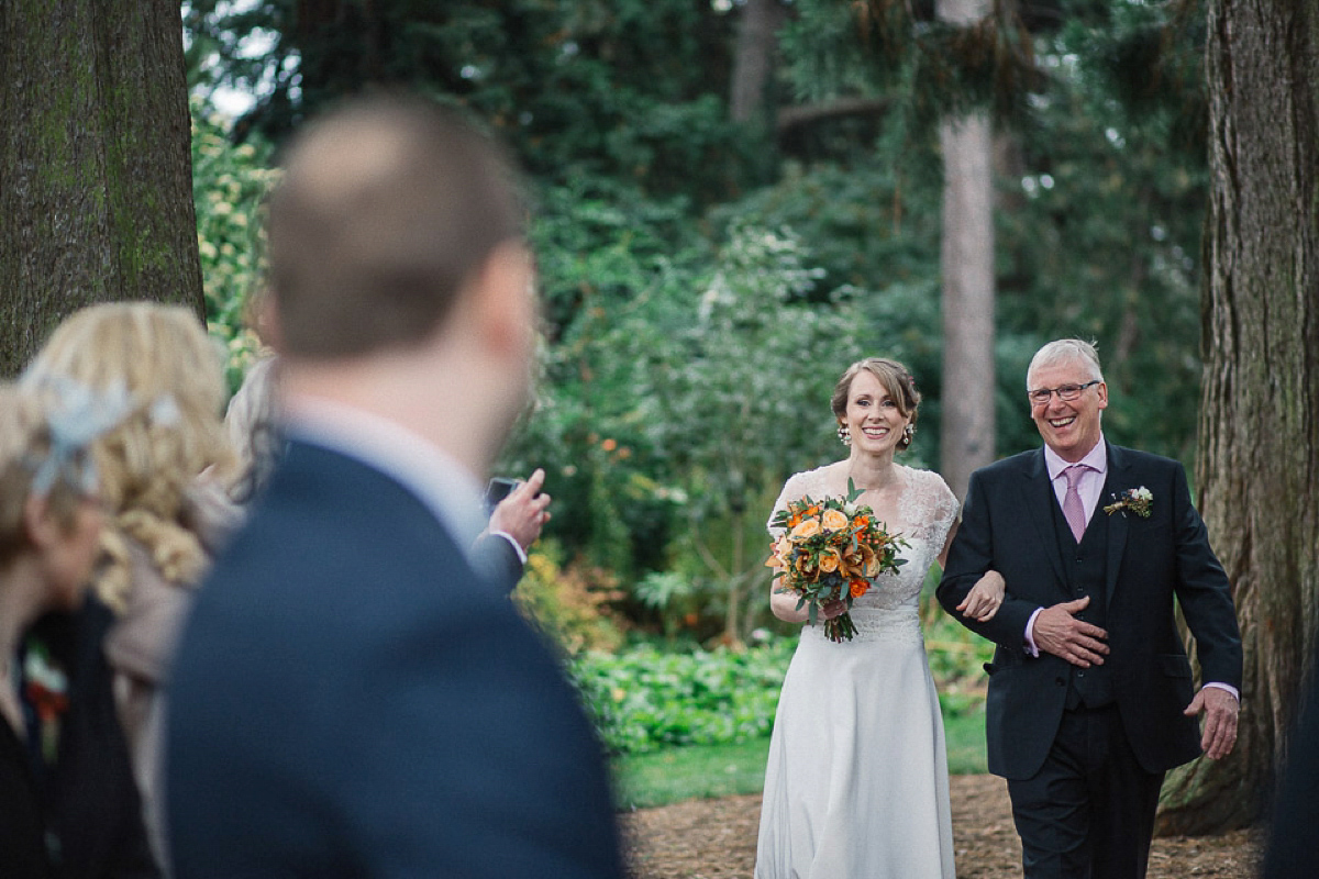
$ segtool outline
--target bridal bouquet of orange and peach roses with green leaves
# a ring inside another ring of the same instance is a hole
[[[885,531],[871,507],[856,503],[861,492],[851,480],[847,492],[847,499],[793,501],[770,523],[782,527],[783,534],[774,542],[765,567],[776,571],[776,592],[795,594],[798,610],[810,606],[813,626],[820,604],[842,600],[851,610],[852,600],[864,596],[874,577],[897,573],[906,564],[898,557],[898,547],[906,542]],[[824,634],[835,642],[852,640],[852,614],[824,621]]]

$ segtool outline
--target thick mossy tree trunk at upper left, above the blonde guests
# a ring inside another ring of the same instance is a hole
[[[177,0],[0,3],[0,376],[69,312],[203,314]]]

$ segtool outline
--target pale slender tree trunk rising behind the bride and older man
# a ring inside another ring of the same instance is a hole
[[[989,0],[939,0],[939,18],[973,24]],[[939,469],[963,498],[971,472],[995,456],[993,140],[989,116],[944,120],[943,394]]]

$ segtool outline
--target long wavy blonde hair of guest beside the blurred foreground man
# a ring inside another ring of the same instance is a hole
[[[129,539],[169,582],[191,585],[206,552],[182,521],[185,496],[208,468],[228,478],[233,453],[220,422],[220,351],[182,306],[116,302],[91,306],[61,323],[28,368],[92,389],[128,391],[120,424],[92,444],[107,510],[103,564],[92,588],[123,609],[131,586]]]

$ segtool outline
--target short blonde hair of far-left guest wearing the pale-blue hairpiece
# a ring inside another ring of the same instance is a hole
[[[0,569],[28,548],[22,511],[37,468],[50,455],[50,427],[38,394],[0,382]],[[80,463],[78,463],[80,464]],[[67,468],[55,472],[46,497],[61,527],[71,528],[82,488]]]

